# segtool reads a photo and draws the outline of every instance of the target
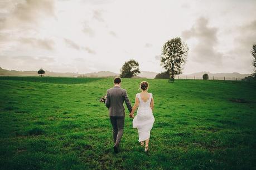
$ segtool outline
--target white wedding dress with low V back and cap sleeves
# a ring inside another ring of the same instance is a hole
[[[149,93],[150,97],[146,102],[141,98],[141,93],[137,93],[136,97],[139,99],[139,107],[137,115],[133,119],[133,128],[138,129],[139,142],[145,141],[150,137],[150,131],[153,127],[154,116],[150,107],[152,93]]]

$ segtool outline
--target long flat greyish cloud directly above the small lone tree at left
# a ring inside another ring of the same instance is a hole
[[[37,39],[37,38],[20,38],[21,45],[27,44],[33,48],[47,49],[49,51],[54,50],[55,42],[52,39]]]

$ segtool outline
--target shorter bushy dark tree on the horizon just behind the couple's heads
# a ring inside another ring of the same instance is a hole
[[[137,76],[138,73],[141,73],[139,71],[139,63],[134,59],[124,62],[124,65],[120,71],[121,78],[132,78],[133,76]]]

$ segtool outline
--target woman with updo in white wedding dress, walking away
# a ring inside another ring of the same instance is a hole
[[[154,99],[152,93],[148,93],[148,82],[142,81],[140,84],[141,93],[136,94],[135,104],[132,108],[132,112],[129,114],[131,118],[134,117],[134,112],[138,108],[137,115],[133,119],[133,128],[138,129],[139,142],[141,146],[144,146],[145,152],[148,152],[148,143],[150,137],[150,131],[153,127],[154,116],[153,107]]]

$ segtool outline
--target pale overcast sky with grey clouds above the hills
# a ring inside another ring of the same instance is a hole
[[[189,46],[183,73],[252,73],[256,1],[0,0],[0,67],[119,73],[135,59],[163,71],[163,44]]]

